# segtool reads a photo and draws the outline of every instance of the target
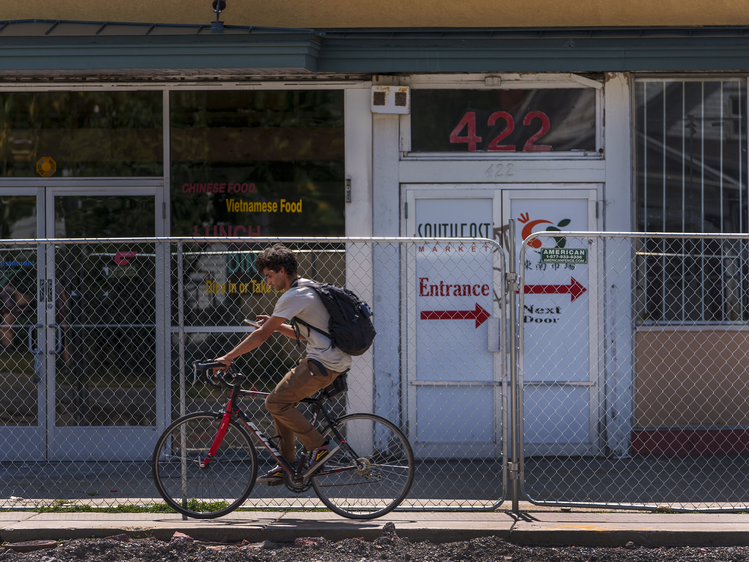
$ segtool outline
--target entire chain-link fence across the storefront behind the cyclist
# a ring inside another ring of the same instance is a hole
[[[0,505],[160,502],[154,441],[182,412],[222,404],[190,363],[272,312],[255,258],[276,241],[3,241]],[[282,241],[303,277],[346,285],[375,312],[375,345],[333,409],[404,429],[417,473],[402,507],[498,507],[512,441],[503,250]],[[748,509],[749,236],[542,232],[513,247],[522,493],[546,505]],[[239,365],[270,390],[302,356],[279,336]],[[262,403],[245,402],[272,434]],[[247,505],[318,507],[308,496],[258,484]]]

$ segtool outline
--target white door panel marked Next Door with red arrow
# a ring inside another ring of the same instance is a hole
[[[536,186],[543,187],[543,186]],[[544,264],[541,247],[585,247],[580,238],[541,238],[524,256],[525,238],[539,231],[595,231],[600,186],[503,191],[503,225],[515,219],[515,252],[525,276],[524,352],[518,379],[524,388],[525,456],[595,454],[598,443],[597,262]]]

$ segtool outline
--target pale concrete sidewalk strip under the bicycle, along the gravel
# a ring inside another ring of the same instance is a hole
[[[530,504],[527,506],[530,510]],[[130,537],[169,540],[175,531],[200,540],[292,541],[297,537],[341,540],[380,537],[395,524],[400,537],[449,543],[496,536],[534,546],[736,546],[749,545],[749,515],[720,513],[601,513],[572,510],[528,511],[520,516],[492,513],[398,512],[373,521],[352,521],[330,512],[234,512],[221,519],[182,519],[164,513],[0,512],[0,542],[22,540]]]

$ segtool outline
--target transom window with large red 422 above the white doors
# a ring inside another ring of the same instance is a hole
[[[413,152],[595,152],[595,89],[411,91]]]

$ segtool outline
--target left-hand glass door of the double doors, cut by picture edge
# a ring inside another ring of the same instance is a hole
[[[45,252],[3,244],[43,232],[43,190],[0,188],[0,460],[46,455]],[[37,282],[38,280],[38,282]]]

